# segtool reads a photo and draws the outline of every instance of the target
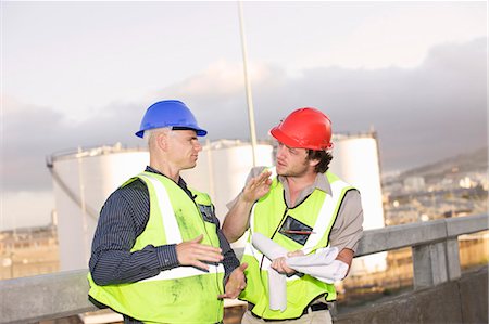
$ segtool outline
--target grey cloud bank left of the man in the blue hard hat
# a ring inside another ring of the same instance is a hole
[[[104,114],[73,122],[47,107],[8,105],[1,132],[2,190],[7,191],[49,189],[51,179],[46,163],[50,155],[124,141],[127,129],[136,131],[136,120],[141,115],[137,105],[114,104]]]

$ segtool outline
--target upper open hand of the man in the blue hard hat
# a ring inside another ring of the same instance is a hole
[[[186,241],[176,246],[178,262],[181,265],[193,265],[203,270],[209,270],[204,262],[220,262],[224,259],[218,247],[200,244],[203,235],[200,234],[191,241]]]

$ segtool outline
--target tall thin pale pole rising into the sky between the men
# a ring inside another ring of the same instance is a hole
[[[239,9],[239,29],[241,31],[241,49],[242,49],[242,62],[244,72],[244,85],[247,90],[247,103],[248,103],[248,120],[250,122],[250,137],[251,137],[251,150],[253,155],[253,167],[256,166],[256,131],[254,129],[254,109],[253,109],[253,99],[251,96],[251,86],[250,79],[248,78],[248,54],[247,54],[247,42],[244,35],[244,20],[242,16],[242,4],[238,1]]]

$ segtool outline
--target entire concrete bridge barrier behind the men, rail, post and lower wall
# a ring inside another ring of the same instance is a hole
[[[487,269],[477,282],[459,280],[456,272],[460,271],[456,236],[485,230],[488,230],[487,215],[365,231],[356,256],[404,246],[416,251],[425,246],[432,251],[421,254],[419,260],[430,257],[429,267],[414,262],[414,273],[435,278],[427,281],[429,285],[452,281],[373,306],[369,312],[363,311],[358,316],[340,314],[338,323],[460,323],[460,320],[478,323],[480,319],[487,323]],[[87,270],[76,270],[0,281],[0,324],[33,323],[97,310],[87,298],[86,275]]]

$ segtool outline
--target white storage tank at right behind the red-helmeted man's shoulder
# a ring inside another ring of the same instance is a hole
[[[385,226],[378,141],[375,132],[336,134],[329,170],[355,186],[362,197],[363,230]],[[355,258],[351,274],[385,271],[387,254]]]

